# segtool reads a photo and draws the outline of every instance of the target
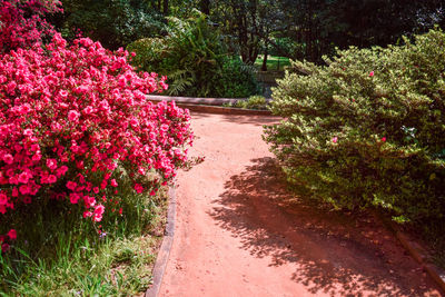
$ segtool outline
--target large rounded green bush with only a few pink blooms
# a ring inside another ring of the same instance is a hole
[[[398,221],[445,212],[445,34],[293,62],[274,90],[285,119],[265,139],[290,180],[338,208]]]

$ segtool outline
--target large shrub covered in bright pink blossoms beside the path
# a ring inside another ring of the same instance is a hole
[[[147,101],[165,78],[137,75],[127,59],[58,33],[44,49],[0,58],[1,214],[63,199],[100,221],[120,182],[155,195],[186,164],[188,110]]]

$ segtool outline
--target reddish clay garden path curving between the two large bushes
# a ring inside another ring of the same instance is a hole
[[[192,115],[160,296],[441,296],[370,215],[319,209],[288,191],[261,140],[273,117]]]

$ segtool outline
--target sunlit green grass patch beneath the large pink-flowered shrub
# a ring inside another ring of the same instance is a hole
[[[131,296],[145,291],[164,232],[167,195],[165,189],[150,198],[123,192],[122,215],[109,211],[101,227],[82,219],[80,211],[59,211],[67,201],[24,214],[29,227],[22,228],[29,230],[20,234],[39,234],[23,236],[27,240],[18,239],[9,253],[0,255],[0,296]],[[106,235],[99,235],[99,229]]]

